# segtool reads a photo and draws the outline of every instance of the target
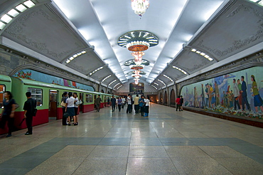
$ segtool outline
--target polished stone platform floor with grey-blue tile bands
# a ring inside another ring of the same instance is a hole
[[[263,129],[151,104],[0,136],[0,174],[263,174]]]

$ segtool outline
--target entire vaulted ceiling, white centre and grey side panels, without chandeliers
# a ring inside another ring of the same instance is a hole
[[[130,0],[32,1],[36,6],[0,31],[1,45],[41,54],[40,60],[111,87],[132,79],[124,64],[134,57],[118,46],[119,37],[129,31],[149,31],[159,38],[157,46],[145,51],[149,65],[141,78],[156,88],[263,48],[263,7],[249,0],[150,0],[143,16],[134,14]],[[1,16],[23,2],[3,1]]]

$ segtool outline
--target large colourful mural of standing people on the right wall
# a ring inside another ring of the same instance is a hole
[[[186,85],[183,106],[263,119],[262,75],[262,67],[253,67]]]

